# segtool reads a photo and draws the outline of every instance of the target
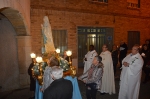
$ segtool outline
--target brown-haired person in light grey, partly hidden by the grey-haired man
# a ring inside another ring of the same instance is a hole
[[[41,91],[44,91],[53,82],[53,79],[50,76],[51,67],[59,66],[59,61],[56,57],[52,56],[47,60],[47,64],[48,66],[46,66],[43,75],[43,85]]]

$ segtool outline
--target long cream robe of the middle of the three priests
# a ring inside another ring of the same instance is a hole
[[[111,53],[109,51],[102,52],[102,63],[104,64],[104,73],[102,77],[101,93],[115,94],[114,70]]]

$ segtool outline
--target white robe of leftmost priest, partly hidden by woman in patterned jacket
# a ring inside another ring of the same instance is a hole
[[[97,56],[97,52],[95,50],[89,51],[85,55],[85,58],[87,59],[87,61],[84,61],[84,71],[83,71],[83,73],[85,73],[91,67],[93,59],[94,59],[95,56]]]

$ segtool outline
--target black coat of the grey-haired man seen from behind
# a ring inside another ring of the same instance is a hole
[[[72,94],[71,81],[61,78],[54,80],[44,91],[43,99],[72,99]]]

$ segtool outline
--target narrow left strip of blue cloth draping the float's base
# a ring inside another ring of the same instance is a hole
[[[36,80],[35,99],[43,99],[43,93],[40,91],[41,87]]]

